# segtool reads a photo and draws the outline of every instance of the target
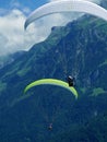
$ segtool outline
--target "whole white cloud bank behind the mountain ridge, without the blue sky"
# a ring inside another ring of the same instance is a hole
[[[14,2],[14,5],[20,7],[20,3]],[[52,14],[36,21],[35,25],[31,24],[24,31],[25,12],[29,12],[29,9],[23,8],[23,11],[16,8],[10,11],[0,9],[0,55],[27,50],[34,44],[46,39],[52,26],[66,25],[76,19],[74,14]]]

